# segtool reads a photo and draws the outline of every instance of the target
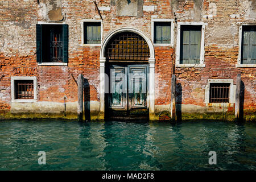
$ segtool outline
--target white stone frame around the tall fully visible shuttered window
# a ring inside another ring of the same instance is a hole
[[[201,28],[201,46],[200,46],[200,64],[180,64],[180,27],[183,25],[202,26]],[[177,47],[176,47],[176,64],[175,67],[205,67],[204,64],[204,22],[177,22]]]

